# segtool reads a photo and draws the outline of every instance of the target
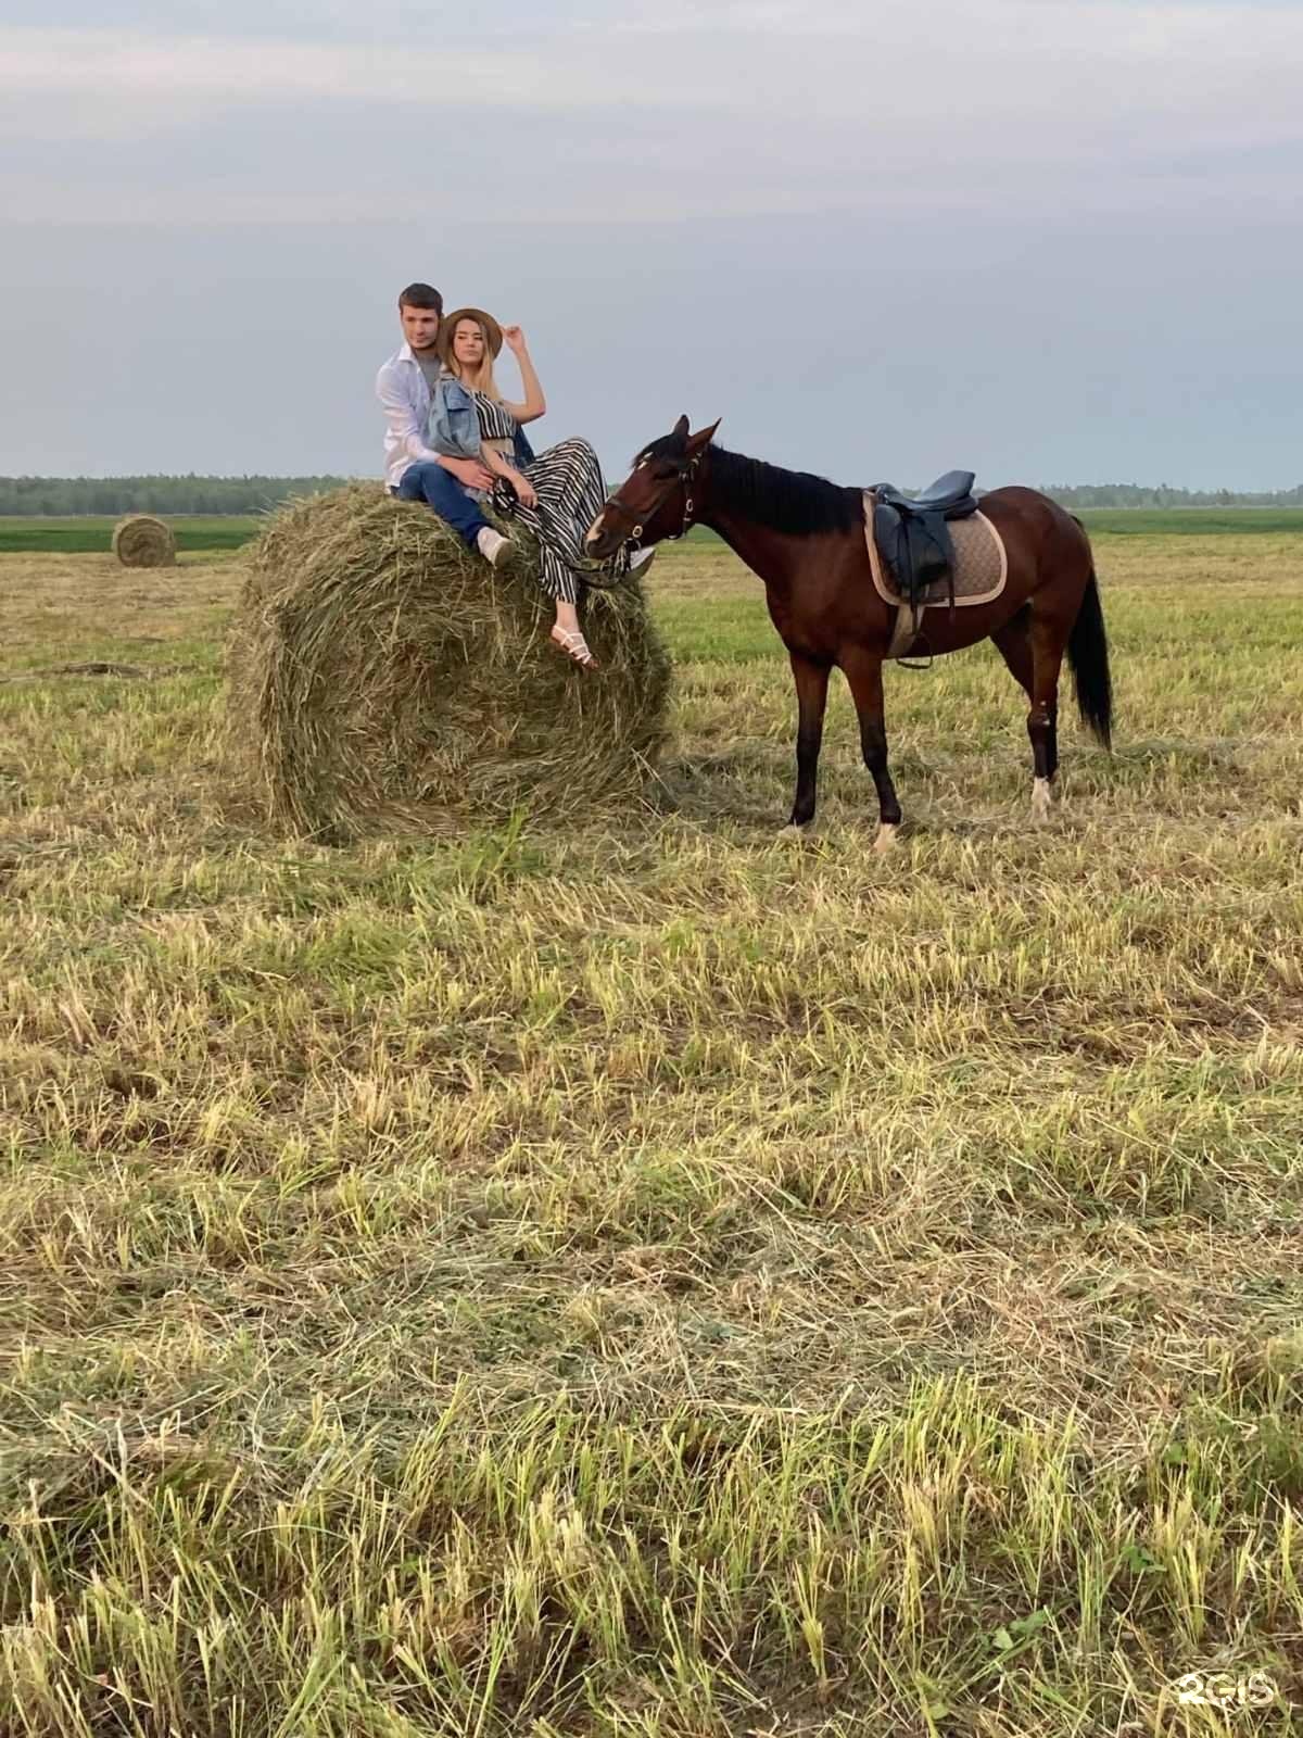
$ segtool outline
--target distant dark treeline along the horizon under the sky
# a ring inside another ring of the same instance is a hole
[[[292,495],[320,495],[346,476],[0,476],[0,516],[118,513],[262,513]],[[980,487],[980,485],[978,485]],[[1065,507],[1303,507],[1303,483],[1258,494],[1167,483],[1046,483]]]

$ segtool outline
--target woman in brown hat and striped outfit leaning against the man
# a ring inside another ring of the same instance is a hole
[[[519,363],[525,386],[525,401],[519,405],[507,403],[493,379],[493,362],[504,339]],[[584,534],[606,501],[598,455],[585,440],[563,440],[539,454],[523,471],[516,468],[518,429],[537,421],[547,408],[518,325],[500,327],[480,308],[459,308],[440,325],[440,355],[445,377],[460,381],[474,403],[480,457],[497,478],[490,497],[493,507],[504,518],[519,520],[539,541],[539,579],[556,601],[551,640],[584,669],[596,669],[598,660],[579,626],[577,603],[584,582],[575,568],[592,567],[584,554]],[[639,549],[631,561],[629,551],[620,549],[603,563],[603,570],[622,579],[650,554],[652,549]]]

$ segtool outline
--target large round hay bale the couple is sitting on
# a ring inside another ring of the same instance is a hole
[[[669,699],[643,589],[587,593],[601,669],[579,669],[513,535],[516,570],[495,574],[429,507],[367,483],[268,520],[228,643],[226,739],[273,822],[358,838],[639,796]]]

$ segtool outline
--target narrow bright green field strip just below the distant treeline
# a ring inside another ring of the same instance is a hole
[[[186,554],[202,549],[238,549],[257,535],[259,514],[165,514]],[[1081,518],[1091,532],[1110,537],[1279,537],[1303,532],[1303,507],[1088,507]],[[0,553],[103,554],[111,546],[116,518],[9,518],[0,516]],[[697,541],[718,539],[698,530]]]

